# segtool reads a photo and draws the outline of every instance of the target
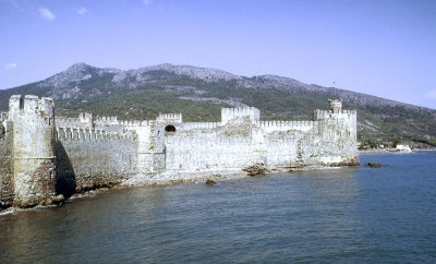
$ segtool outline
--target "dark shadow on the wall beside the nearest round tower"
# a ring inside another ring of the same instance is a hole
[[[56,192],[69,199],[76,188],[75,172],[61,142],[56,143],[57,179]]]

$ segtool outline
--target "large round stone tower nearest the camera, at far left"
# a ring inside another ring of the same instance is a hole
[[[53,101],[14,95],[9,109],[13,123],[14,205],[51,204],[56,195]]]

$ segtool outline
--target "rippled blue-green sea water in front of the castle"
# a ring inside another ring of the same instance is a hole
[[[113,190],[0,216],[0,262],[436,262],[436,155]]]

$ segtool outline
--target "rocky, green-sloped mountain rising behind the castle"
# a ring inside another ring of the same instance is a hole
[[[436,110],[294,79],[246,77],[191,65],[160,64],[137,70],[76,63],[46,80],[0,91],[0,110],[13,94],[55,99],[57,113],[88,111],[120,119],[153,119],[158,112],[182,112],[185,121],[218,121],[221,107],[254,106],[264,120],[311,119],[327,109],[329,98],[358,110],[361,141],[408,141],[436,145]]]

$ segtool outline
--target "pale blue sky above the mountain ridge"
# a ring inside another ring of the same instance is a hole
[[[75,62],[277,74],[436,108],[436,0],[0,0],[0,88]]]

